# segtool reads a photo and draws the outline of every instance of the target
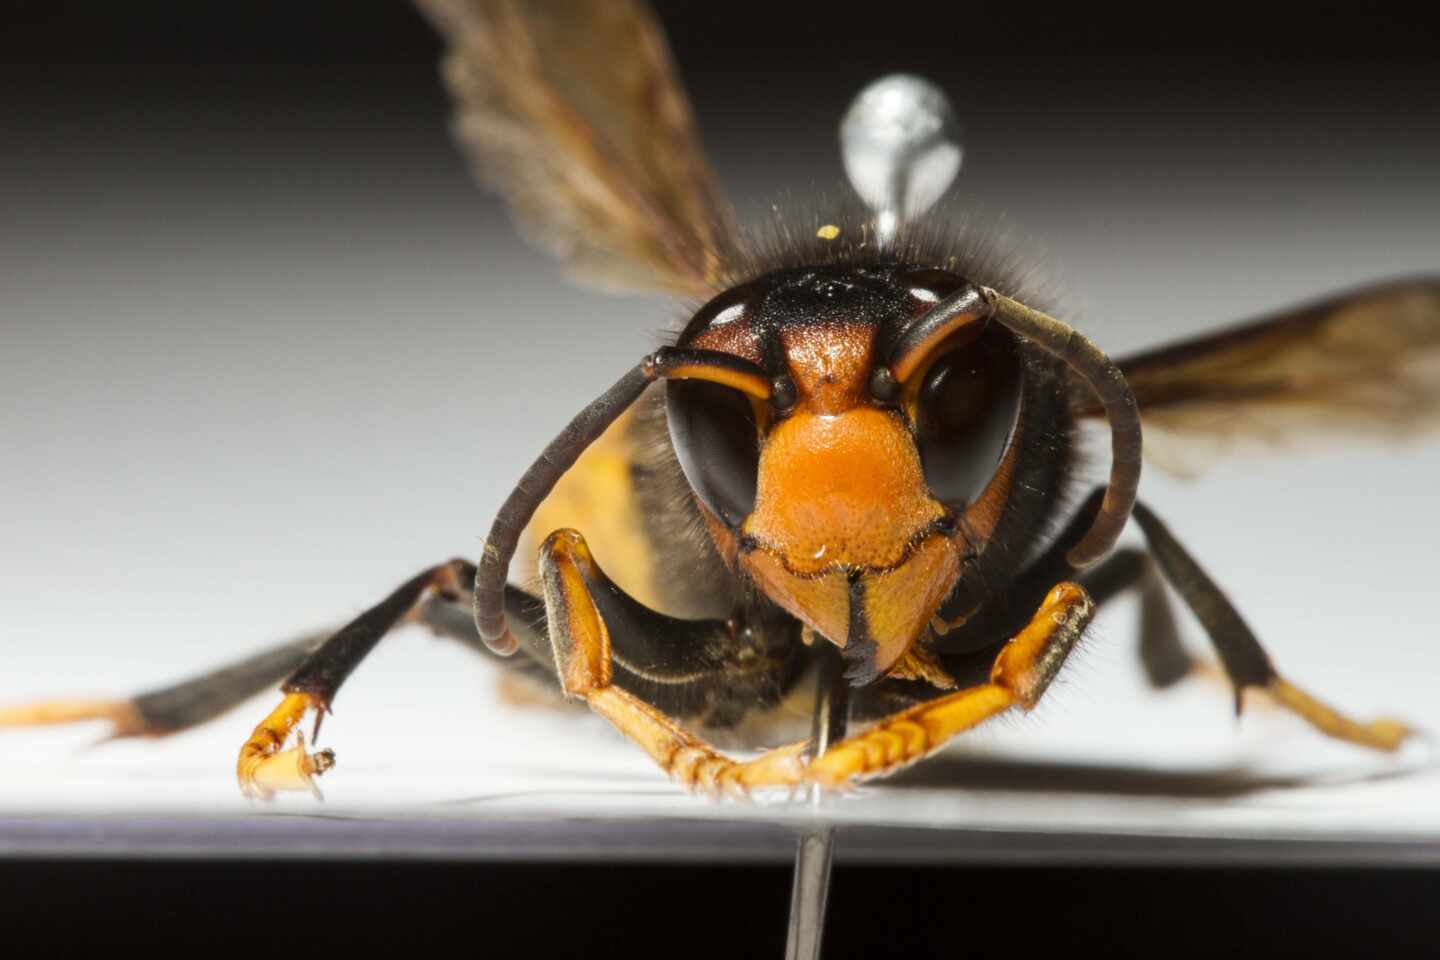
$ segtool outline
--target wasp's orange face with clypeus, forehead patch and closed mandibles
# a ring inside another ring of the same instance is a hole
[[[878,676],[959,576],[949,512],[930,495],[903,416],[867,399],[873,328],[793,331],[785,348],[799,399],[760,452],[739,563]]]

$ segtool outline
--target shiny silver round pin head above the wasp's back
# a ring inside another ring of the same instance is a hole
[[[876,212],[881,245],[945,194],[963,157],[949,99],[912,73],[860,91],[840,124],[840,145],[851,186]]]

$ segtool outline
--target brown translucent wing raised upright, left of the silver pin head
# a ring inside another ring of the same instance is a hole
[[[612,288],[704,294],[734,249],[694,117],[638,0],[418,0],[455,127],[526,237]]]

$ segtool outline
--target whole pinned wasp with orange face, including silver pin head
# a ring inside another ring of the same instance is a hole
[[[1286,678],[1140,498],[1142,438],[1426,422],[1440,383],[1414,360],[1440,347],[1440,279],[1112,358],[937,203],[960,150],[923,82],[883,81],[847,118],[858,201],[746,232],[638,0],[419,6],[448,43],[459,140],[526,236],[582,278],[684,298],[683,322],[541,450],[477,558],[416,573],[336,632],[0,724],[158,735],[282,682],[236,776],[256,797],[314,789],[337,692],[422,623],[582,701],[685,787],[837,790],[1032,710],[1096,612],[1136,592],[1155,685],[1201,662],[1174,593],[1237,710],[1261,691],[1361,747],[1416,734]],[[1092,491],[1087,425],[1109,436]],[[1143,547],[1117,545],[1132,524]],[[816,711],[808,737],[765,723]]]

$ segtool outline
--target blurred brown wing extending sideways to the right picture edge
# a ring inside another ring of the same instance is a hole
[[[1191,474],[1224,448],[1440,425],[1440,278],[1392,281],[1119,360],[1146,455]],[[1080,416],[1100,415],[1071,389]]]

